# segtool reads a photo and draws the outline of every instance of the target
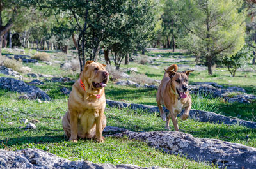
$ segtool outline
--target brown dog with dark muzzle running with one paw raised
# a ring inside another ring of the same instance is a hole
[[[156,102],[160,110],[161,118],[163,121],[166,121],[165,128],[170,129],[169,122],[170,118],[172,118],[175,131],[179,131],[177,115],[180,114],[182,108],[185,108],[185,112],[181,117],[182,120],[188,118],[191,109],[191,96],[188,91],[188,76],[191,71],[194,71],[189,70],[178,73],[177,70],[178,66],[176,64],[172,64],[165,70],[164,78],[161,81],[156,94]],[[162,105],[170,111],[167,119]]]

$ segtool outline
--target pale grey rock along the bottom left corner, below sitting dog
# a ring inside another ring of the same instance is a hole
[[[0,149],[0,168],[92,168],[92,169],[142,169],[136,165],[111,165],[111,164],[95,164],[89,161],[70,161],[60,158],[47,151],[40,149],[22,149],[19,151],[6,151]],[[159,168],[159,167],[152,167]]]

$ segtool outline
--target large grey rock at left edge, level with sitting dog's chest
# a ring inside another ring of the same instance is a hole
[[[14,78],[1,77],[0,88],[13,91],[13,92],[24,92],[28,94],[29,99],[39,98],[47,101],[51,100],[51,98],[39,87],[28,85],[25,82],[16,80]]]

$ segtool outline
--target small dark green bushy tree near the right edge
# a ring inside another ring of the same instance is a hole
[[[223,57],[223,64],[227,66],[228,71],[232,75],[232,77],[235,76],[236,70],[238,68],[242,68],[243,66],[246,66],[247,62],[252,59],[252,50],[247,45],[244,45],[244,47],[239,50],[236,54]]]

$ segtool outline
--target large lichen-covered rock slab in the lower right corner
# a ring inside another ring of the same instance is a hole
[[[256,149],[239,143],[216,139],[195,138],[175,131],[132,132],[113,135],[129,140],[140,140],[164,152],[195,161],[209,161],[219,168],[256,168]]]

